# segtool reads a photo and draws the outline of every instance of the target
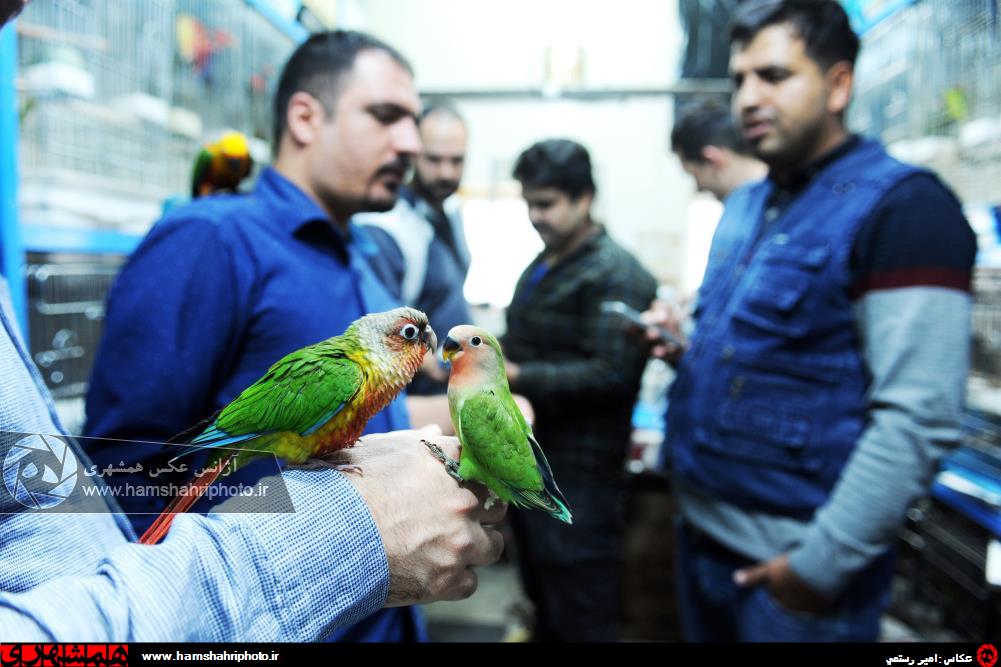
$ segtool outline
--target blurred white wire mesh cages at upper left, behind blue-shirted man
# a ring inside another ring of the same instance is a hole
[[[18,29],[22,169],[154,199],[187,191],[199,145],[223,129],[269,140],[294,46],[239,0],[48,0]]]

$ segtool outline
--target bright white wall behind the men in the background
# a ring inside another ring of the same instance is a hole
[[[399,49],[422,91],[540,89],[550,47],[581,49],[584,89],[663,89],[676,78],[681,52],[674,0],[341,0],[338,12],[341,27]],[[517,196],[511,170],[522,150],[554,136],[578,140],[595,164],[597,216],[659,279],[681,286],[693,188],[670,152],[670,96],[455,102],[470,129],[463,195]],[[527,224],[512,220],[514,228]],[[470,280],[476,261],[474,254]]]

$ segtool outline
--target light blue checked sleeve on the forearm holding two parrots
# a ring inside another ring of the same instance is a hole
[[[124,544],[91,575],[0,595],[0,639],[314,641],[379,609],[388,565],[350,482],[283,477],[292,514],[179,516],[160,545]]]

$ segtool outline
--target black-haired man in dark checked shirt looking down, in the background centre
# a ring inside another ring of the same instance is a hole
[[[623,467],[645,359],[603,301],[644,307],[657,281],[592,216],[591,156],[541,141],[515,166],[546,247],[526,268],[502,343],[512,389],[536,409],[535,433],[574,511],[567,526],[512,512],[535,639],[615,641],[623,564]]]

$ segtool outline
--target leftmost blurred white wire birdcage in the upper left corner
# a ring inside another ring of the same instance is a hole
[[[173,183],[170,139],[171,0],[29,3],[18,23],[21,168],[140,186]],[[85,185],[83,183],[86,183]]]

